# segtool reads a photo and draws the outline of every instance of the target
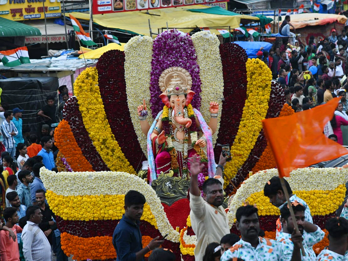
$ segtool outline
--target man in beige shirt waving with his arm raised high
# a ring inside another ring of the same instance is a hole
[[[226,164],[226,158],[223,159],[224,164]],[[228,217],[224,208],[221,206],[223,203],[222,175],[215,176],[214,179],[207,179],[203,183],[202,198],[198,187],[197,176],[203,171],[203,167],[204,165],[200,164],[199,159],[193,157],[190,168],[190,218],[192,229],[197,236],[195,247],[196,261],[203,260],[205,248],[209,243],[220,242],[220,239],[224,235],[230,233]],[[220,161],[218,171],[220,171],[219,168],[223,168],[220,165]]]

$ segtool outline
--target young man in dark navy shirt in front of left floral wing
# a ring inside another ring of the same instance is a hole
[[[125,196],[125,214],[112,235],[112,244],[117,253],[116,261],[144,261],[146,253],[164,242],[158,240],[157,236],[143,248],[139,225],[145,202],[144,195],[135,190],[129,190]]]

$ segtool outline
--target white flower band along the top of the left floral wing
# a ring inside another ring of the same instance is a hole
[[[137,190],[145,196],[161,235],[169,234],[167,239],[175,243],[180,240],[155,190],[138,176],[111,171],[55,173],[42,167],[40,177],[47,190],[62,196],[125,195],[129,190]]]

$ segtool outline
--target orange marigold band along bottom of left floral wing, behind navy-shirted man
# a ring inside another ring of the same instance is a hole
[[[151,237],[143,236],[143,246],[147,246],[151,240]],[[96,242],[98,242],[98,247],[96,247]],[[117,257],[112,245],[112,237],[109,236],[82,238],[64,232],[61,234],[61,244],[66,255],[72,254],[72,258],[79,261],[86,259],[105,260]],[[148,257],[150,253],[145,254],[145,257]]]

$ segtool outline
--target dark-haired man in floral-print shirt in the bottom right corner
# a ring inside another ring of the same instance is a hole
[[[329,247],[322,250],[317,261],[345,261],[348,248],[348,221],[344,217],[332,217],[326,221],[329,232]]]

